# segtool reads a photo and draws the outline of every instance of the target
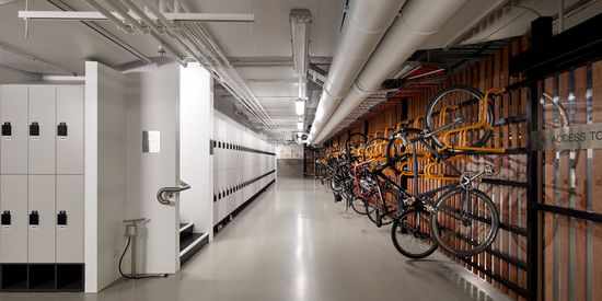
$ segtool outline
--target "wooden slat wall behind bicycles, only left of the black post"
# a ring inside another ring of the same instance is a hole
[[[490,88],[506,86],[517,82],[519,78],[510,78],[508,76],[508,60],[511,55],[516,55],[528,48],[528,38],[520,38],[507,47],[496,53],[493,56],[472,63],[461,72],[449,77],[444,82],[425,89],[424,93],[418,96],[413,96],[407,100],[408,121],[414,118],[424,116],[426,105],[430,97],[443,88],[453,84],[467,84],[486,91]],[[380,132],[387,127],[394,127],[401,119],[401,103],[398,100],[385,104],[382,111],[372,114],[373,117],[368,119],[369,134]],[[498,97],[494,104],[494,115],[496,119],[513,117],[526,114],[526,90],[508,93],[503,97]],[[476,109],[474,116],[477,115]],[[345,135],[349,129],[340,132],[340,141],[344,143]],[[354,131],[363,132],[363,128],[352,128]],[[335,136],[337,137],[337,136]],[[497,126],[494,137],[488,141],[489,147],[503,147],[508,149],[526,148],[526,125],[524,121],[503,124]],[[334,139],[336,143],[336,138]],[[497,172],[496,178],[508,180],[520,183],[526,183],[526,154],[506,154],[506,155],[487,155],[475,159],[476,163],[467,164],[466,169],[482,169],[483,164],[494,164]],[[421,166],[420,166],[421,167]],[[445,172],[445,170],[442,170]],[[413,188],[413,180],[408,180],[407,186],[409,190]],[[432,189],[441,185],[441,181],[421,181],[419,183],[420,190]],[[526,228],[526,189],[523,187],[510,187],[502,185],[486,184],[481,187],[498,206],[500,221],[507,225],[524,230]],[[461,242],[458,242],[461,243]],[[463,243],[463,242],[462,242]],[[500,229],[496,241],[491,245],[495,252],[501,253],[514,262],[522,263],[522,267],[505,261],[501,257],[494,256],[490,253],[484,252],[472,258],[468,262],[485,269],[506,281],[513,283],[522,294],[526,291],[526,238],[522,234],[517,234],[505,229]],[[450,257],[454,258],[451,254]],[[491,282],[503,292],[508,293],[512,299],[524,300],[519,292],[508,288],[507,286],[495,281],[484,273],[479,273],[477,268],[471,264],[463,262],[460,258],[454,258],[455,262],[465,266],[483,279]]]

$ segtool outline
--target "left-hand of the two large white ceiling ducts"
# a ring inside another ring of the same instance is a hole
[[[345,19],[328,78],[310,132],[320,134],[326,120],[349,91],[363,65],[393,23],[403,0],[354,0]]]

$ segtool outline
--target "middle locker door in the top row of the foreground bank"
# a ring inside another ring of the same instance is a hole
[[[28,127],[30,174],[55,174],[56,86],[30,85]]]

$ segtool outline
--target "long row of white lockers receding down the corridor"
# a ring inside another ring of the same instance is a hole
[[[222,148],[213,150],[213,194],[227,192],[241,183],[256,178],[276,169],[275,155],[256,153],[251,151],[233,150],[223,147],[223,143],[234,144],[275,152],[275,147],[269,144],[265,137],[253,132],[250,128],[235,123],[222,113],[213,112],[213,139]],[[253,195],[267,186],[275,178],[275,174],[263,177],[253,184],[236,189],[235,192],[217,199],[213,204],[213,223],[217,224],[227,218],[232,211],[243,205]]]

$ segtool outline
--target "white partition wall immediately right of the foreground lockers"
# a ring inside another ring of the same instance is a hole
[[[125,76],[85,63],[85,291],[119,278],[126,209]]]

